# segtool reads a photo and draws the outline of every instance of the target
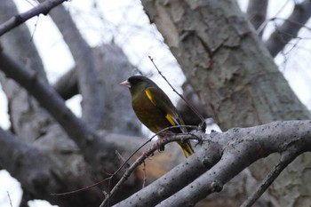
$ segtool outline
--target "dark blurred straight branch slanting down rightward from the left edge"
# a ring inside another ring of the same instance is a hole
[[[50,85],[38,78],[35,72],[24,68],[19,62],[12,60],[4,52],[0,53],[0,68],[6,76],[11,77],[28,90],[29,94],[33,95],[41,106],[60,123],[68,133],[68,136],[80,147],[88,162],[96,163],[96,158],[104,159],[104,157],[100,158],[96,157],[96,155],[109,150],[105,139],[99,138],[87,124],[76,118],[66,107],[64,100],[60,98]],[[107,153],[108,155],[113,155],[113,153]],[[110,159],[113,160],[114,158],[110,157]],[[112,161],[110,160],[110,162]]]

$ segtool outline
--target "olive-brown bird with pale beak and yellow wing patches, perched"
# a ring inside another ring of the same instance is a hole
[[[164,139],[169,133],[187,132],[187,129],[178,110],[171,103],[170,98],[146,76],[131,76],[121,85],[127,87],[132,96],[132,108],[150,131],[158,133],[170,126],[179,126],[159,133],[160,139]],[[195,153],[189,140],[177,141],[186,157]]]

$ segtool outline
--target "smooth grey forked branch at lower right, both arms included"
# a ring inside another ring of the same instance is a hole
[[[285,156],[291,156],[293,160],[297,155],[310,151],[310,129],[310,121],[289,121],[235,128],[224,133],[212,132],[209,135],[198,133],[196,135],[202,136],[204,141],[195,155],[115,206],[195,206],[207,195],[227,188],[228,180],[262,157],[280,153],[276,166]],[[291,182],[286,185],[292,187]],[[253,190],[245,192],[246,195]],[[229,202],[222,200],[220,206],[239,206],[242,200],[237,195]],[[284,203],[282,206],[286,206]],[[205,203],[205,206],[207,204],[214,206],[217,203]],[[259,206],[267,206],[267,203]]]

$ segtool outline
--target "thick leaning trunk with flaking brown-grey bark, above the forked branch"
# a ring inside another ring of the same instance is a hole
[[[142,3],[187,81],[222,130],[274,120],[310,119],[235,1]],[[259,169],[269,168],[275,160],[271,156],[266,167]],[[307,160],[307,155],[301,155],[292,164],[299,166],[299,175],[291,177],[292,182],[304,178],[303,169],[310,164]],[[289,172],[283,174],[288,176]],[[293,202],[303,199],[305,195],[298,198],[296,192],[282,189],[284,183],[276,180],[271,191],[287,195]],[[288,204],[281,196],[275,195],[275,200],[280,206]]]

